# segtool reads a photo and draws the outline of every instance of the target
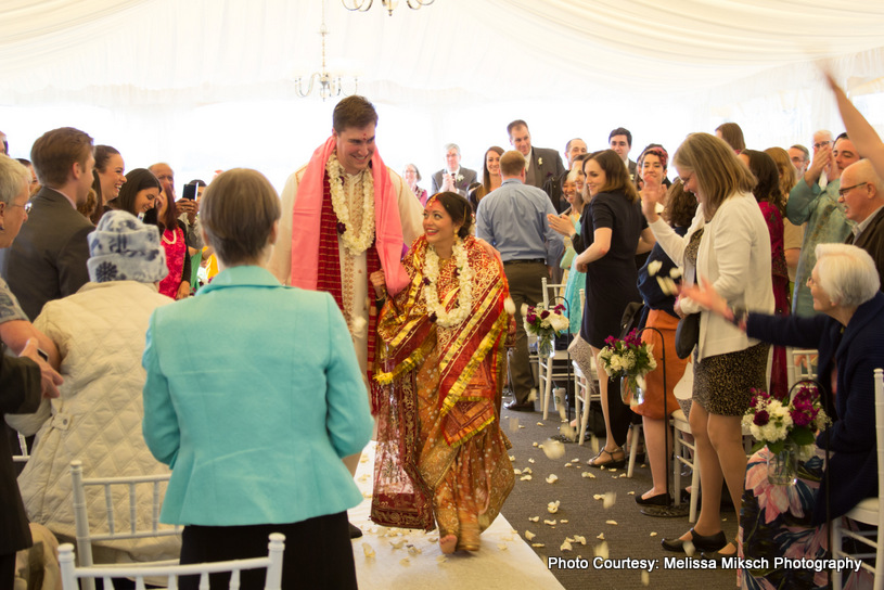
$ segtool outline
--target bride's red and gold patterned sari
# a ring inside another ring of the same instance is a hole
[[[444,328],[427,310],[423,268],[427,243],[415,240],[403,265],[411,282],[387,302],[381,339],[375,408],[377,452],[371,517],[406,528],[433,528],[478,549],[478,535],[512,490],[513,469],[495,400],[503,383],[509,295],[499,260],[464,240],[473,304],[461,323]],[[438,300],[458,304],[454,257],[439,261]],[[434,518],[435,517],[435,518]]]

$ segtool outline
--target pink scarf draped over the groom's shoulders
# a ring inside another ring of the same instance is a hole
[[[297,202],[292,211],[292,286],[317,288],[322,181],[325,163],[334,149],[334,136],[317,148],[298,185]],[[384,269],[387,291],[395,295],[410,280],[400,261],[403,248],[398,201],[377,150],[371,158],[371,176],[374,180],[374,245]]]

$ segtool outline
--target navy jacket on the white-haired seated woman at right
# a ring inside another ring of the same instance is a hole
[[[827,413],[834,423],[817,437],[833,456],[813,506],[813,524],[825,522],[825,488],[831,482],[831,517],[877,495],[873,372],[884,367],[884,294],[857,308],[846,326],[825,315],[765,316],[750,313],[746,333],[780,346],[817,348],[817,381],[823,387]],[[832,371],[837,368],[837,395],[832,402]],[[834,406],[834,411],[832,410]]]

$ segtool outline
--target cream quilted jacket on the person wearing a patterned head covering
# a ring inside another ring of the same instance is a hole
[[[74,538],[69,463],[82,461],[84,477],[168,473],[144,444],[141,367],[151,313],[172,300],[151,284],[134,281],[87,283],[50,302],[34,324],[59,347],[64,384],[61,397],[37,414],[8,416],[25,434],[37,432],[30,460],[18,476],[29,518]],[[164,488],[165,492],[165,488]],[[106,531],[102,488],[87,489],[89,525]],[[151,523],[151,487],[139,486],[140,525]],[[144,495],[143,498],[141,495]],[[128,493],[115,499],[116,527],[128,529]],[[177,559],[178,537],[123,540],[93,547],[95,562]]]

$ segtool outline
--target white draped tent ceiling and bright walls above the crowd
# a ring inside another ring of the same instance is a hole
[[[329,69],[357,75],[379,105],[387,161],[418,162],[426,177],[447,141],[478,167],[488,145],[507,146],[516,117],[535,144],[560,150],[574,136],[601,148],[619,125],[636,151],[674,149],[726,119],[757,146],[806,143],[815,128],[841,127],[816,62],[831,60],[848,89],[884,86],[882,0],[436,0],[393,16],[380,0],[367,13],[325,2]],[[198,152],[209,169],[242,163],[222,157],[225,143],[257,149],[284,133],[290,145],[273,145],[284,158],[257,164],[291,170],[328,133],[336,102],[295,95],[294,79],[320,66],[321,5],[4,0],[0,129],[26,155],[50,121],[86,120],[98,142],[139,159]],[[204,138],[198,150],[180,145],[183,131]]]

